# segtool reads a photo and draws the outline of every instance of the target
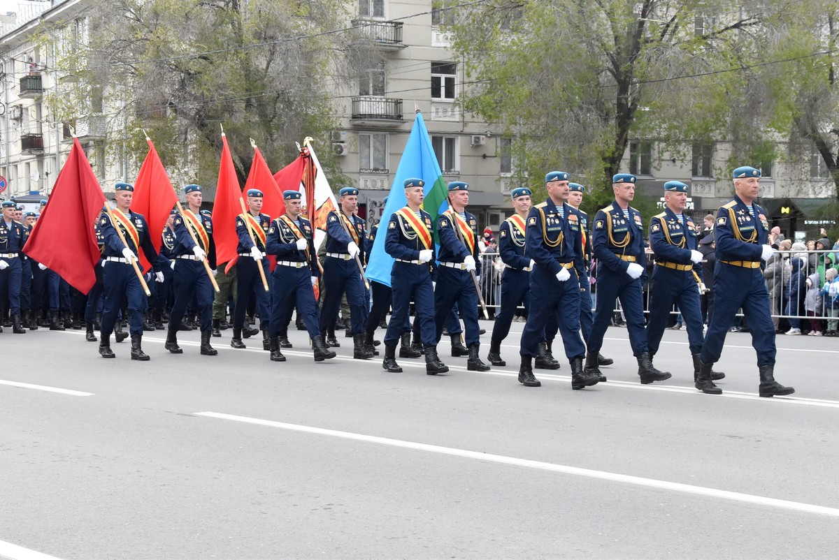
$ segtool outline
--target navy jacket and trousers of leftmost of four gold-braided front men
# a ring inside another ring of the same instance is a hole
[[[539,341],[545,326],[555,317],[569,361],[585,357],[580,336],[580,283],[575,262],[582,262],[580,213],[563,203],[563,215],[550,198],[545,205],[530,209],[527,219],[527,254],[536,262],[530,291],[538,294],[539,305],[531,309],[521,338],[523,356],[539,355]],[[556,274],[565,268],[571,277],[560,282]]]

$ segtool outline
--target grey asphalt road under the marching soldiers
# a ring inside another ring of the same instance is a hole
[[[300,331],[279,364],[229,330],[215,357],[149,334],[149,362],[4,332],[0,557],[836,557],[839,341],[780,335],[796,393],[767,399],[750,335],[729,334],[709,396],[684,330],[656,357],[673,378],[642,386],[611,328],[609,381],[571,391],[565,363],[519,385],[522,326],[487,373],[440,345],[446,376],[388,374],[344,338],[315,364]]]

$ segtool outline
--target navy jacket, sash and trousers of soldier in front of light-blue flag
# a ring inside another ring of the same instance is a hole
[[[411,215],[414,210],[405,206]],[[423,231],[418,231],[423,228]],[[423,236],[430,240],[432,257],[430,262],[420,262],[420,251],[426,249]],[[409,321],[410,303],[414,301],[416,320],[420,327],[420,339],[425,348],[437,344],[434,324],[434,288],[431,283],[431,268],[434,266],[434,235],[431,215],[420,210],[416,222],[407,220],[394,212],[388,220],[388,231],[384,238],[384,250],[396,259],[390,273],[390,288],[393,297],[393,314],[384,335],[384,345],[396,346]]]

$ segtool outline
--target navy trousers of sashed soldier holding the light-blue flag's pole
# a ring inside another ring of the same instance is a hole
[[[477,325],[477,292],[469,272],[450,267],[438,268],[434,299],[436,341],[440,341],[440,336],[443,334],[443,324],[451,321],[452,309],[456,302],[463,315],[463,324],[466,326],[466,346],[480,344],[481,340],[478,334],[480,329]],[[456,315],[454,315],[454,319],[457,319]],[[447,324],[451,325],[451,323]],[[457,334],[458,332],[460,332],[460,324],[457,325],[456,332],[452,332],[450,327],[450,334]]]

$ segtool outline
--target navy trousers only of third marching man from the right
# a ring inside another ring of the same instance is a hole
[[[597,309],[594,324],[586,345],[589,352],[599,352],[603,346],[603,335],[612,320],[615,300],[620,299],[623,314],[627,320],[629,345],[633,355],[642,355],[647,349],[647,333],[644,332],[644,293],[642,278],[633,280],[626,272],[612,272],[602,267],[597,275]]]

